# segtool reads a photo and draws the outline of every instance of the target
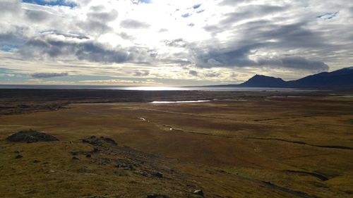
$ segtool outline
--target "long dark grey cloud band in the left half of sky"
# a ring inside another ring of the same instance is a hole
[[[99,63],[148,63],[153,58],[150,51],[138,47],[109,49],[97,42],[68,42],[45,37],[28,40],[20,47],[19,52],[24,58],[74,56],[78,60]]]

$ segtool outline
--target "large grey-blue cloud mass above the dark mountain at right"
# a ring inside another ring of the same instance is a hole
[[[285,7],[280,6],[259,6],[253,9],[259,15],[267,12],[284,11]],[[245,14],[252,17],[254,13]],[[285,55],[275,58],[249,58],[254,51],[274,50],[298,51],[330,49],[332,44],[328,44],[323,39],[323,33],[310,30],[310,26],[305,21],[288,25],[275,24],[270,20],[252,20],[248,23],[237,25],[234,30],[229,30],[228,25],[236,20],[241,20],[244,16],[240,13],[231,13],[217,25],[208,25],[205,30],[217,35],[219,32],[230,31],[237,35],[232,38],[234,42],[223,44],[222,47],[213,44],[203,50],[193,50],[196,54],[196,66],[201,68],[213,67],[275,67],[293,68],[298,70],[322,71],[328,70],[328,66],[322,61],[305,58],[305,54]]]

